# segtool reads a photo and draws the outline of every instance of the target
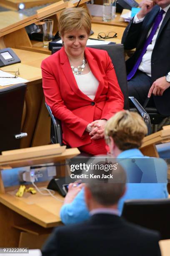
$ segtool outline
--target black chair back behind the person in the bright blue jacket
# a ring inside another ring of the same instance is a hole
[[[158,230],[161,239],[170,238],[170,199],[127,200],[122,217],[131,223]]]

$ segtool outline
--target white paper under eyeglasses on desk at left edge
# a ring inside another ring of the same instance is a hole
[[[14,75],[0,70],[0,86],[29,82],[28,80],[23,79],[21,77],[17,77],[17,78],[2,78],[2,77],[14,77]]]

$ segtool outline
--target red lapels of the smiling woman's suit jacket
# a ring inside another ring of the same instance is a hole
[[[85,58],[87,59],[87,62],[89,64],[89,67],[91,69],[92,74],[96,77],[96,79],[99,81],[99,86],[97,89],[96,97],[97,95],[100,95],[100,92],[104,86],[104,83],[102,82],[101,85],[101,80],[102,79],[102,74],[99,72],[100,68],[98,67],[97,61],[94,59],[90,51],[85,48]],[[67,54],[65,53],[64,47],[61,48],[60,50],[60,64],[61,64],[61,69],[63,71],[63,74],[65,75],[65,78],[67,79],[68,84],[70,84],[70,87],[72,90],[75,92],[75,94],[78,97],[81,97],[85,100],[92,101],[87,95],[85,95],[82,91],[79,90],[74,74],[72,74],[72,69],[70,67],[70,62],[68,60]]]

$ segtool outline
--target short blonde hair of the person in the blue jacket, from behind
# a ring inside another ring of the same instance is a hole
[[[109,143],[109,137],[112,137],[117,147],[125,151],[139,148],[147,132],[147,126],[138,113],[123,110],[107,121],[105,139]]]

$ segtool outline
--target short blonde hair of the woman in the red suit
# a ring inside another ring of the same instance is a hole
[[[84,28],[88,35],[91,30],[91,18],[87,10],[83,7],[66,8],[60,14],[58,30],[60,36],[65,32]]]

